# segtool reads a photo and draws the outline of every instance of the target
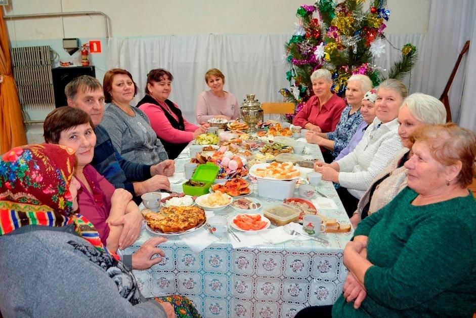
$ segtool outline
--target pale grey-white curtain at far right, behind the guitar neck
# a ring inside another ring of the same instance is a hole
[[[449,92],[453,122],[476,131],[476,2],[474,0],[432,0],[426,49],[423,58],[422,93],[439,98],[456,59],[467,40],[464,56]]]

